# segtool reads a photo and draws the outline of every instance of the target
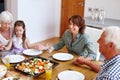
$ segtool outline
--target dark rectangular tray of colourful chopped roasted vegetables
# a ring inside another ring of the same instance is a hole
[[[37,77],[45,72],[44,65],[48,62],[53,64],[53,68],[59,64],[55,61],[35,56],[23,62],[17,63],[14,68],[15,70],[23,72],[32,77]]]

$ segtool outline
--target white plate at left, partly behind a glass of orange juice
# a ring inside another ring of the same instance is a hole
[[[7,55],[5,57],[9,58],[10,63],[18,63],[18,62],[25,60],[25,57],[22,55]],[[3,58],[3,62],[4,62],[4,58]]]

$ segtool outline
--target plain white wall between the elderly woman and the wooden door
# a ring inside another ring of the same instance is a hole
[[[61,0],[6,0],[14,19],[24,20],[31,43],[59,37]]]

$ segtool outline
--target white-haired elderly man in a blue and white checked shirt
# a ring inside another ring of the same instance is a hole
[[[96,80],[120,80],[120,28],[116,26],[103,28],[98,40],[99,51],[105,57],[102,66],[85,61],[83,57],[76,59],[75,64],[85,64],[98,72]]]

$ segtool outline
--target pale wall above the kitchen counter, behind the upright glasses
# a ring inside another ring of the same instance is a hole
[[[106,12],[106,18],[120,20],[120,0],[85,0],[85,17],[89,16],[89,8],[100,8]]]

